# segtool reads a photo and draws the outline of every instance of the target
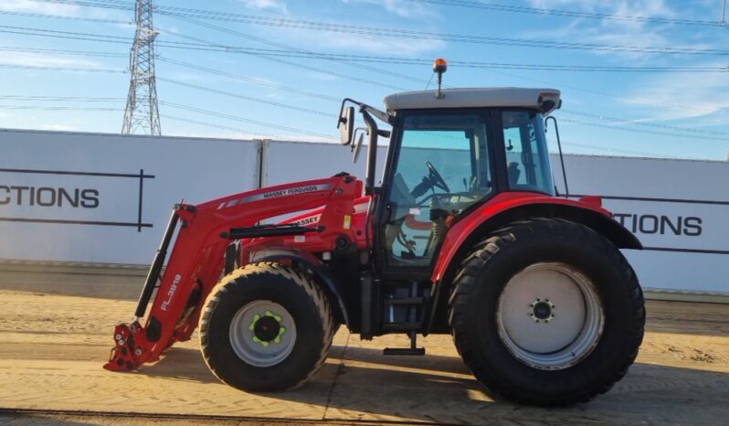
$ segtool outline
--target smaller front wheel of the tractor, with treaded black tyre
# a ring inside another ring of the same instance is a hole
[[[200,318],[207,367],[247,391],[293,389],[322,367],[335,331],[322,289],[275,262],[246,265],[224,277]]]

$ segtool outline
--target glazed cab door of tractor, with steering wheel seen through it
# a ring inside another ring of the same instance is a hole
[[[494,116],[398,112],[375,217],[375,264],[386,278],[427,279],[449,223],[495,194]]]

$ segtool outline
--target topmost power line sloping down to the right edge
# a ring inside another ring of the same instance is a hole
[[[627,22],[645,22],[650,24],[675,24],[685,26],[700,26],[700,27],[724,27],[724,22],[721,21],[707,21],[700,19],[680,19],[671,17],[660,17],[660,16],[633,16],[633,15],[614,15],[614,14],[603,14],[597,12],[582,12],[577,10],[563,10],[563,9],[550,9],[542,7],[528,7],[520,5],[502,5],[496,3],[482,3],[473,2],[468,0],[410,0],[411,2],[417,3],[429,3],[432,5],[449,5],[456,7],[468,7],[471,9],[483,9],[493,10],[498,12],[510,12],[520,14],[532,14],[532,15],[547,15],[547,16],[563,16],[563,17],[583,17],[589,19],[607,19],[613,21],[627,21]]]

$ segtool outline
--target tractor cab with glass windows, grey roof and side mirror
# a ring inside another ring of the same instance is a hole
[[[411,91],[387,96],[386,112],[352,101],[370,135],[366,190],[376,198],[380,272],[428,279],[447,229],[475,207],[506,191],[555,196],[544,119],[559,96],[551,89]],[[343,108],[343,144],[353,142],[353,116]],[[379,130],[372,116],[392,130]],[[369,175],[377,134],[390,136],[380,186]]]

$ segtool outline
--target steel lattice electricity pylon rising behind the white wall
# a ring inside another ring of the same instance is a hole
[[[127,107],[124,110],[122,133],[160,135],[160,112],[154,78],[154,38],[159,34],[152,25],[153,0],[136,0],[134,44],[129,55]]]

